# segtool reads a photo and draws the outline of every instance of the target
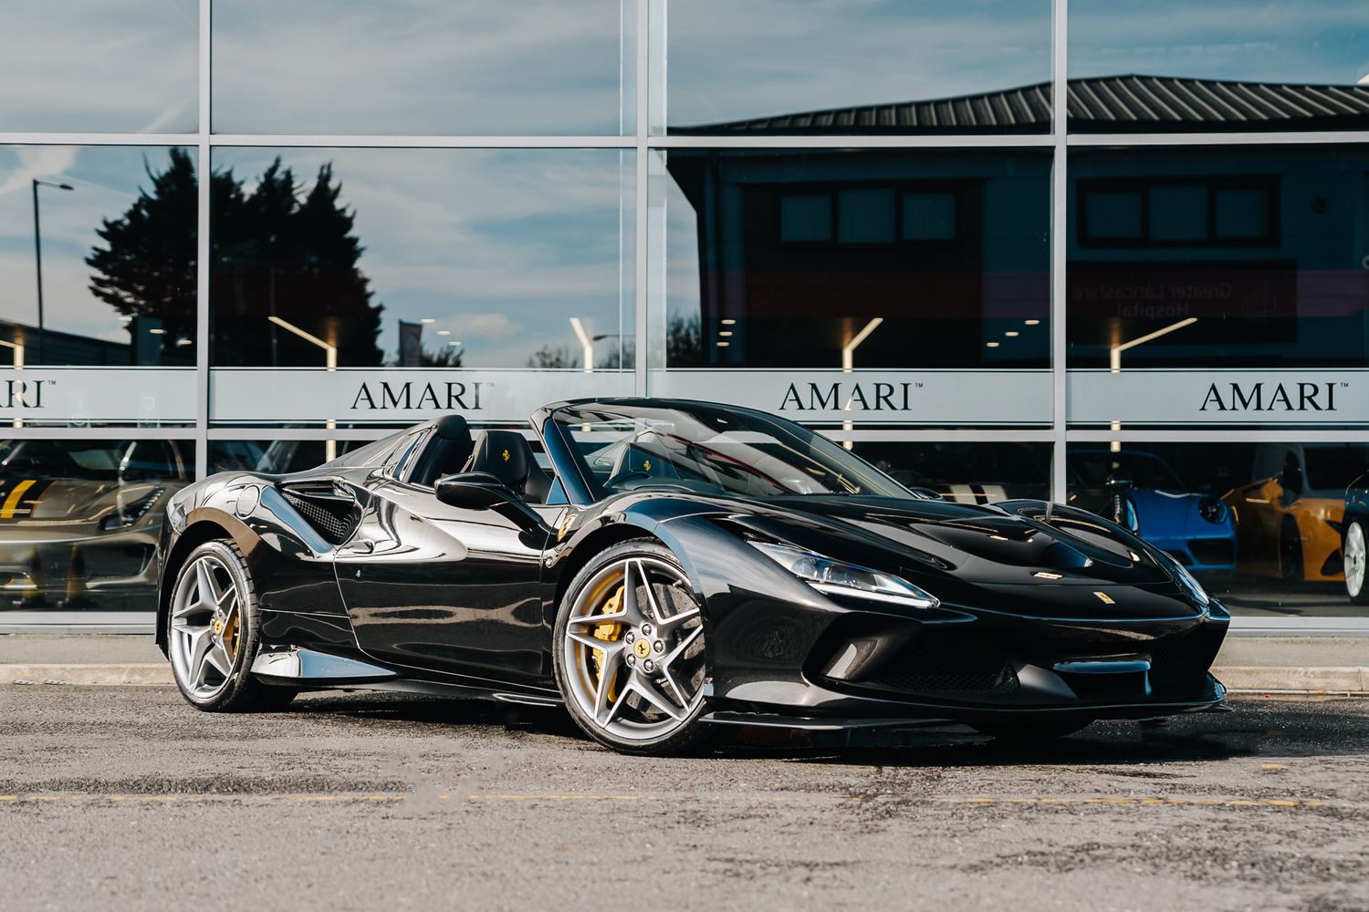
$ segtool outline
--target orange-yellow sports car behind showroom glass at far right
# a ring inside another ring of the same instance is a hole
[[[1223,496],[1236,520],[1238,569],[1295,581],[1343,580],[1346,485],[1364,472],[1365,453],[1362,444],[1259,444],[1258,480]]]

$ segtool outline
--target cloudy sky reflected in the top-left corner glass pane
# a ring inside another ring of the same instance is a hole
[[[197,0],[8,0],[0,129],[193,133]]]

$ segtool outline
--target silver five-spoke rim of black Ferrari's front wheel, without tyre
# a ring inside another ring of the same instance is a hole
[[[650,741],[704,700],[704,623],[689,581],[649,556],[608,565],[580,588],[563,644],[571,699],[594,725]]]

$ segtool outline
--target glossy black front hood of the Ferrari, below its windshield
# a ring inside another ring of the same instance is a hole
[[[1124,539],[1091,513],[1040,500],[975,506],[801,496],[765,505],[771,509],[752,517],[757,531],[875,569],[984,584],[1172,582],[1140,541]]]

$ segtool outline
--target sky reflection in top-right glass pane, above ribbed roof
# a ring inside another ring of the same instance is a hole
[[[1072,0],[1069,75],[1354,83],[1369,74],[1355,0]]]

